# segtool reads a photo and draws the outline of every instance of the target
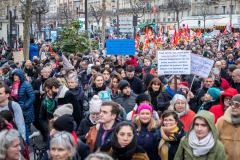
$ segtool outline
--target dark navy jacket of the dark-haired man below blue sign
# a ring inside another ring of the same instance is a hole
[[[139,79],[136,76],[134,76],[132,79],[128,79],[127,77],[124,77],[123,79],[128,81],[128,83],[130,84],[131,90],[135,94],[143,93],[143,84],[141,79]]]

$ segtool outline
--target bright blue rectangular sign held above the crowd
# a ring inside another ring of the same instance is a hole
[[[107,55],[135,55],[134,39],[106,40]]]

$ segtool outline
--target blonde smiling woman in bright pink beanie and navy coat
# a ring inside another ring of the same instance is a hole
[[[138,107],[137,113],[134,125],[136,126],[138,145],[146,150],[150,160],[160,160],[158,156],[160,132],[153,119],[153,107],[147,103],[142,103]]]

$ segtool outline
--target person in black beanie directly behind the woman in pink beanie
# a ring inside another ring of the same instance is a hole
[[[138,108],[139,108],[138,106],[140,106],[143,103],[151,104],[149,97],[145,93],[139,94],[137,96],[136,105],[134,106],[133,110],[127,114],[126,120],[133,121],[135,116],[138,114]],[[153,112],[153,118],[158,121],[159,120],[158,113],[153,109],[152,109],[152,112]]]

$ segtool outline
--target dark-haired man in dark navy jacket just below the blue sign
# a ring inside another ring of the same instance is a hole
[[[126,77],[124,79],[129,82],[130,87],[135,94],[141,94],[143,93],[143,84],[141,79],[136,77],[134,73],[135,68],[133,66],[128,65],[126,67]]]

